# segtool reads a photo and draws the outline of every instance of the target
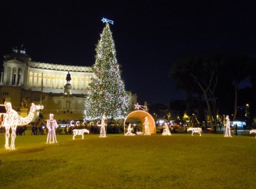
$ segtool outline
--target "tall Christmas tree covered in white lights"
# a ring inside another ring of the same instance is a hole
[[[84,118],[97,120],[105,113],[108,119],[123,119],[128,113],[129,99],[121,80],[109,22],[106,22],[100,34],[100,41],[95,50],[97,55],[92,67],[95,77],[92,78],[88,87]]]

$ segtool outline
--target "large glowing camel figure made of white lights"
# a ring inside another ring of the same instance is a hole
[[[27,125],[29,124],[36,113],[37,110],[43,109],[43,106],[31,104],[29,115],[25,118],[18,115],[17,111],[12,109],[11,102],[6,103],[6,113],[4,114],[3,127],[6,127],[6,149],[15,149],[15,137],[17,125]],[[11,129],[11,145],[9,146],[9,137]]]

